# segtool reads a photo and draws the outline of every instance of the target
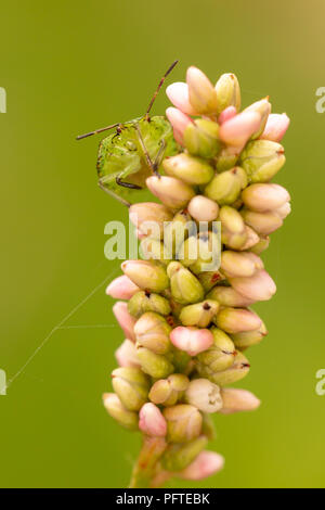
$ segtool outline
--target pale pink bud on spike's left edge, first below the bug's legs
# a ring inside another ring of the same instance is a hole
[[[155,202],[143,202],[140,204],[132,204],[129,208],[130,220],[132,224],[145,234],[152,234],[150,224],[155,222],[159,226],[160,238],[164,234],[164,222],[171,221],[172,213],[162,204]]]

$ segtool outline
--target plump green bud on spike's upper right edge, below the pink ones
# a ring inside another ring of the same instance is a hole
[[[268,182],[285,164],[284,148],[269,140],[247,143],[240,162],[249,182]]]

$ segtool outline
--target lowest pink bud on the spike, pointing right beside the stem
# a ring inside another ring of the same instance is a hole
[[[204,450],[196,459],[191,462],[187,468],[183,469],[178,473],[178,476],[184,480],[203,480],[211,474],[221,471],[224,464],[224,459],[221,455],[214,451]]]

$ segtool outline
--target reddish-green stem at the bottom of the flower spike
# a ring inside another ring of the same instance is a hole
[[[157,462],[167,447],[164,437],[144,436],[143,445],[132,471],[129,488],[148,488],[156,476]]]

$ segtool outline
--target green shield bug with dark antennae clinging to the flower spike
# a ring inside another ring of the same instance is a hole
[[[158,170],[164,157],[178,152],[172,127],[167,118],[160,115],[150,116],[165,79],[177,63],[178,61],[174,61],[160,79],[142,117],[122,124],[112,124],[77,137],[77,140],[81,140],[116,128],[115,133],[100,143],[96,168],[100,188],[125,205],[130,205],[125,200],[130,190],[141,190],[151,174],[159,176]]]

